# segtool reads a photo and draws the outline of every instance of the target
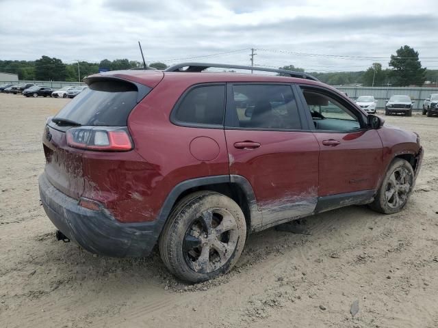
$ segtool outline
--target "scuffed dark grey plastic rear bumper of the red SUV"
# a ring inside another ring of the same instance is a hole
[[[57,229],[93,254],[115,257],[148,256],[159,234],[153,222],[120,223],[108,210],[89,210],[57,190],[45,174],[38,178],[40,198]]]

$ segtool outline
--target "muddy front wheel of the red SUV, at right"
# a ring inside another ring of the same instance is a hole
[[[380,213],[400,212],[411,195],[414,172],[411,164],[404,159],[395,159],[383,178],[376,198],[370,207]]]

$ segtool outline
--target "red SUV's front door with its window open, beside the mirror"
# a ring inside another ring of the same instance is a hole
[[[374,195],[382,172],[383,146],[365,115],[340,94],[302,85],[302,100],[320,145],[319,197]]]

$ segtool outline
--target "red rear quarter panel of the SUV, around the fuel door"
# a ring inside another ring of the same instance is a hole
[[[134,165],[136,173],[123,173],[127,167],[122,163],[111,169],[117,172],[117,179],[124,180],[125,187],[117,189],[118,193],[123,193],[123,207],[135,210],[129,210],[129,215],[123,217],[116,215],[120,221],[154,221],[164,200],[179,182],[229,174],[223,129],[176,126],[169,120],[170,111],[179,96],[192,84],[190,81],[166,83],[164,79],[129,115],[128,128],[135,145],[133,152],[138,157],[131,165]],[[209,137],[216,141],[218,152],[214,159],[200,161],[192,155],[190,143],[196,137]],[[99,187],[102,186],[105,188],[104,183],[99,183]],[[135,194],[129,195],[129,190],[135,191]],[[120,209],[122,212],[123,209]]]

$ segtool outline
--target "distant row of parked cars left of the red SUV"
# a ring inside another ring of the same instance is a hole
[[[55,90],[51,87],[35,85],[33,83],[28,83],[25,85],[4,84],[0,85],[0,92],[5,94],[23,94],[23,96],[34,98],[39,96],[49,96],[52,98],[75,98],[75,96],[83,92],[83,90],[86,88],[87,86],[82,85],[68,85],[66,87],[62,87],[61,89]]]

